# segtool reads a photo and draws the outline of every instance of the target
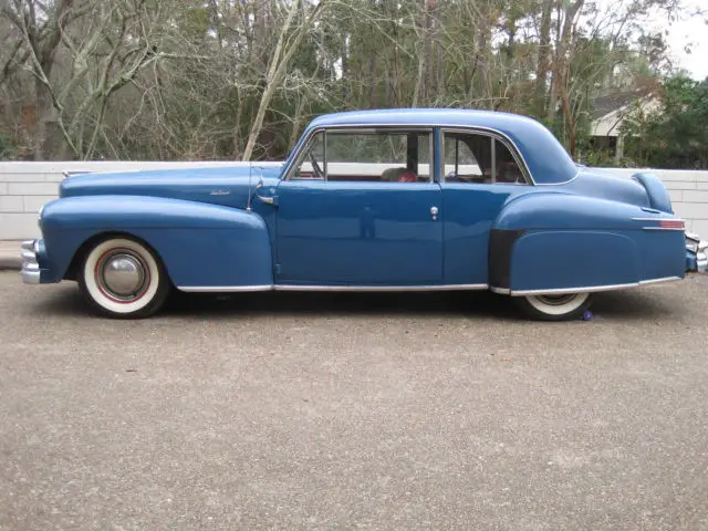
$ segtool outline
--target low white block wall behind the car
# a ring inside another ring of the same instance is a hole
[[[241,163],[242,164],[242,163]],[[0,163],[0,240],[39,237],[37,212],[56,197],[62,171],[131,171],[189,167],[233,166],[228,162],[195,163]],[[637,169],[606,169],[629,177]],[[686,228],[708,237],[708,171],[644,170],[657,175],[671,196],[674,209],[686,221]]]

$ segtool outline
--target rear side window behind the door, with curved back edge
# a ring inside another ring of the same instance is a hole
[[[525,183],[507,145],[492,136],[445,133],[444,149],[444,175],[448,183]]]

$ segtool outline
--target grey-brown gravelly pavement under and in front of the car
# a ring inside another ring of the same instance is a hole
[[[0,529],[708,529],[708,275],[594,313],[0,273]]]

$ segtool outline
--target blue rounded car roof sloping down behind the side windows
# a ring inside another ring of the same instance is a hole
[[[478,127],[501,133],[519,149],[537,184],[571,180],[577,166],[553,134],[540,122],[519,114],[464,108],[383,108],[325,114],[313,119],[308,133],[321,127],[426,126]]]

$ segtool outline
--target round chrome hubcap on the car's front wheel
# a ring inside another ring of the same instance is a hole
[[[96,268],[101,288],[121,301],[138,299],[147,289],[146,266],[139,257],[124,250],[107,253]]]

